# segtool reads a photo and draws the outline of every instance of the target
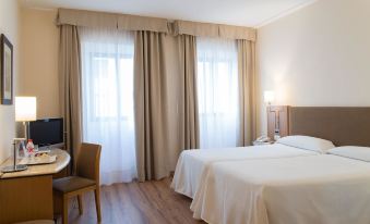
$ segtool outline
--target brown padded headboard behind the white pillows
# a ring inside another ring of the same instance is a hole
[[[289,107],[289,135],[370,147],[370,108]]]

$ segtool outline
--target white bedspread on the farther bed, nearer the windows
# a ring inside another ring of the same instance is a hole
[[[213,162],[249,159],[271,159],[300,155],[317,155],[318,152],[298,149],[281,144],[227,149],[200,149],[183,151],[176,165],[171,188],[193,198],[201,176]]]

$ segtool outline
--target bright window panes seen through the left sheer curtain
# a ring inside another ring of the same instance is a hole
[[[92,53],[89,57],[94,73],[91,92],[94,110],[89,110],[89,117],[128,120],[133,116],[133,54]],[[100,107],[103,104],[105,107]]]

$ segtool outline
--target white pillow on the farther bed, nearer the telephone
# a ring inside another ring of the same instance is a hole
[[[276,142],[321,153],[326,153],[329,149],[335,147],[330,140],[301,135],[286,136],[278,139]]]

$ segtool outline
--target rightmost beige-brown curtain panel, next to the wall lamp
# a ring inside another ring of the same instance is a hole
[[[249,40],[237,40],[240,99],[239,146],[249,146],[255,138],[255,47]]]

